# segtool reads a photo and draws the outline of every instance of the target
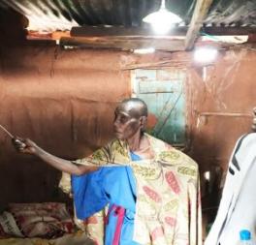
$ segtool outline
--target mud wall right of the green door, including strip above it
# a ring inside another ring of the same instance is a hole
[[[251,132],[252,109],[256,107],[255,50],[227,48],[208,65],[195,63],[193,52],[156,53],[137,57],[127,66],[186,74],[185,151],[200,167],[204,228],[216,214],[235,143]]]

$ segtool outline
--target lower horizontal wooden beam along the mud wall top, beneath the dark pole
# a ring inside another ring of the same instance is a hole
[[[156,50],[181,51],[184,50],[183,40],[172,39],[127,39],[127,38],[61,38],[61,46],[78,46],[91,48],[114,48],[131,50],[154,47]]]

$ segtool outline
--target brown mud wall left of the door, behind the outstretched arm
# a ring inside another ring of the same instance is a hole
[[[1,48],[0,123],[50,153],[76,159],[112,138],[115,105],[130,96],[123,53],[63,50],[51,45]],[[32,156],[17,154],[0,132],[1,201],[62,198],[60,174]]]

